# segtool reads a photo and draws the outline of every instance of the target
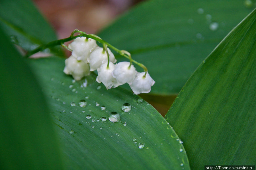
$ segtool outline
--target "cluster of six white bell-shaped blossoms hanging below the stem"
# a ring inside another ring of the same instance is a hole
[[[96,81],[103,83],[107,89],[128,83],[132,91],[138,95],[149,93],[155,81],[148,72],[137,72],[131,62],[116,62],[114,54],[99,47],[94,39],[77,37],[68,45],[72,54],[65,60],[64,73],[80,80],[97,70]],[[109,58],[109,62],[108,62]]]

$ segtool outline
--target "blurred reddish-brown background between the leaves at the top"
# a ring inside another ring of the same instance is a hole
[[[34,0],[60,39],[76,28],[97,33],[118,15],[144,0]]]

